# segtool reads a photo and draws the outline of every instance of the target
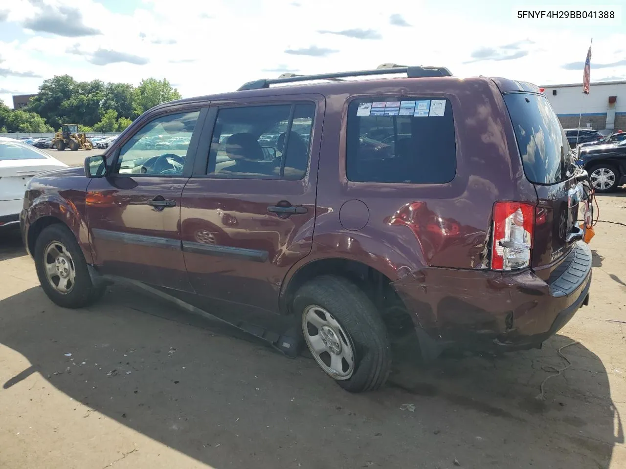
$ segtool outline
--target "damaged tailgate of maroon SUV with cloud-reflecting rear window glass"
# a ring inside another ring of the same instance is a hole
[[[504,99],[526,178],[538,198],[531,265],[554,266],[582,238],[578,210],[586,204],[588,191],[573,177],[567,136],[548,99],[532,93],[505,93]]]

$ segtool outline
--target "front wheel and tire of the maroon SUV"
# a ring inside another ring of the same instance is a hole
[[[59,250],[59,246],[63,249]],[[61,260],[59,262],[55,260],[57,253],[56,259]],[[64,224],[51,224],[41,231],[35,241],[34,260],[41,288],[59,306],[82,308],[100,300],[105,293],[105,285],[95,286],[91,282],[83,251]],[[66,272],[61,271],[59,275],[59,270],[55,270],[54,276],[49,278],[46,265],[55,268],[57,264],[59,268],[65,268]],[[68,281],[65,283],[66,279]],[[65,292],[59,289],[61,283],[65,283]]]

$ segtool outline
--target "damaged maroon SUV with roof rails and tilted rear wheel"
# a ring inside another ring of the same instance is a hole
[[[557,332],[588,303],[589,194],[536,86],[396,66],[157,106],[34,178],[21,224],[58,305],[123,278],[362,391],[402,335],[432,358]]]

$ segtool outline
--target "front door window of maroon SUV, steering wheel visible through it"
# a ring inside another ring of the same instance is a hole
[[[180,176],[199,114],[170,114],[147,123],[121,147],[117,173]]]

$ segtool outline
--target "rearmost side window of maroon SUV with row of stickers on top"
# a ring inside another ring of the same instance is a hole
[[[350,181],[444,184],[454,174],[456,138],[448,99],[361,99],[349,104]]]

